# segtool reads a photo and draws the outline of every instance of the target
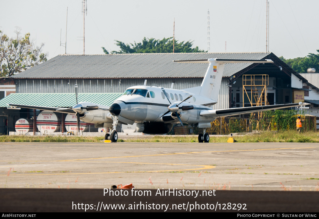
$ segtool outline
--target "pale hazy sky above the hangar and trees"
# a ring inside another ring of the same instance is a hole
[[[304,57],[319,49],[318,0],[269,0],[269,51],[278,57]],[[83,54],[82,0],[0,0],[0,29],[13,36],[17,27],[29,32],[51,59],[65,48]],[[85,54],[119,50],[115,40],[141,42],[144,37],[194,41],[207,50],[207,11],[210,11],[211,52],[266,51],[266,0],[87,0]],[[218,57],[212,57],[218,58]]]

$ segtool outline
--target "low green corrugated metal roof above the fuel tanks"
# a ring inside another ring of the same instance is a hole
[[[92,102],[110,106],[122,93],[79,93],[78,102]],[[7,104],[23,104],[48,107],[72,107],[76,105],[75,94],[70,93],[12,93],[0,100],[0,107]]]

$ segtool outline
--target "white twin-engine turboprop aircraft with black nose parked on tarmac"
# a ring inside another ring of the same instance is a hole
[[[118,123],[137,123],[137,132],[145,134],[166,134],[176,123],[188,123],[194,127],[204,128],[203,134],[198,135],[199,142],[209,142],[206,128],[211,127],[211,121],[217,117],[252,113],[266,110],[298,106],[303,108],[307,103],[281,104],[271,106],[253,106],[232,109],[213,110],[210,106],[217,103],[219,88],[222,80],[224,64],[226,63],[272,63],[266,60],[242,59],[199,59],[174,60],[179,63],[209,63],[202,85],[199,87],[176,90],[173,84],[170,89],[163,87],[143,86],[129,87],[124,94],[108,107],[90,102],[81,102],[72,108],[42,107],[9,104],[10,106],[49,110],[77,115],[80,120],[95,123],[96,127],[109,127],[110,133],[105,139],[117,141],[116,126]],[[75,85],[76,97],[78,86]],[[78,128],[79,130],[79,128]]]

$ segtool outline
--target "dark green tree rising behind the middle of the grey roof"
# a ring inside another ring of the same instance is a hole
[[[154,38],[145,38],[141,43],[129,43],[125,44],[121,41],[115,40],[116,45],[120,47],[120,51],[111,51],[112,54],[121,53],[171,53],[173,52],[173,37],[163,38],[162,40],[156,40]],[[174,42],[174,52],[207,52],[200,50],[198,46],[191,48],[193,46],[193,41],[187,41],[184,43]],[[105,54],[109,54],[108,51],[102,47]]]

